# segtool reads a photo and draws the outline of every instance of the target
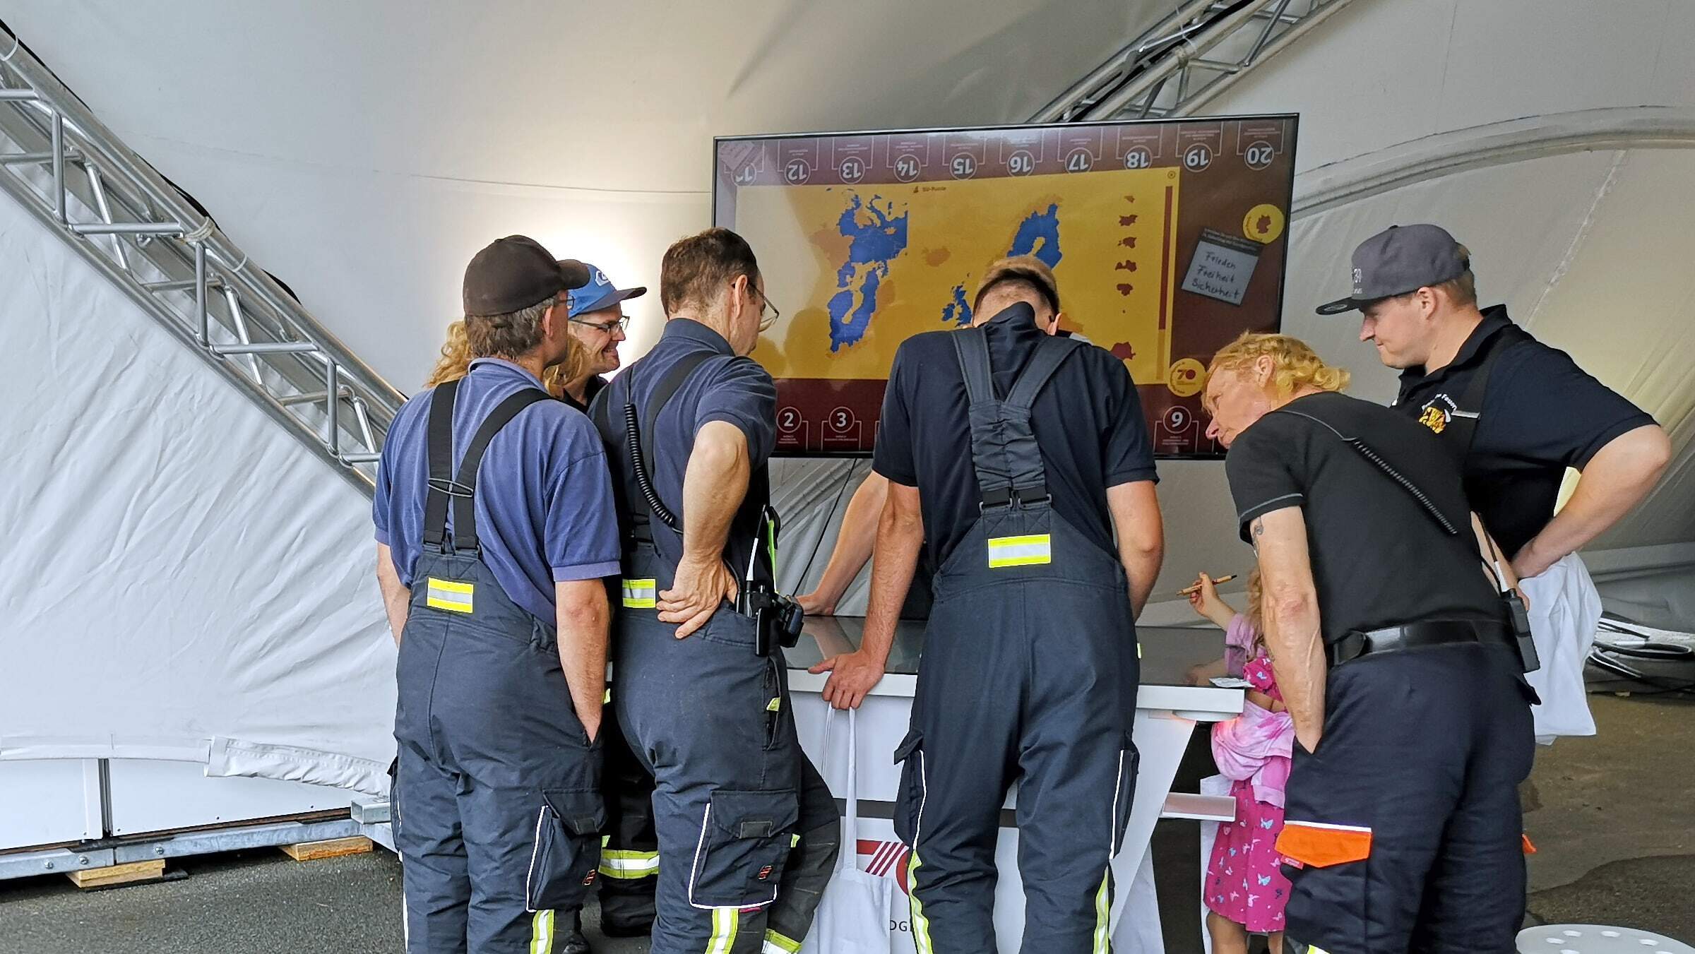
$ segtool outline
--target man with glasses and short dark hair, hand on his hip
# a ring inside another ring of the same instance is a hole
[[[727,229],[673,244],[659,342],[595,398],[625,534],[612,703],[654,778],[654,954],[793,954],[841,844],[800,751],[773,588],[776,386],[747,354],[776,310]]]

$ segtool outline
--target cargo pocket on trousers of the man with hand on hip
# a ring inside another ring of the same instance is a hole
[[[749,908],[776,900],[795,840],[800,795],[715,791],[688,874],[688,901],[700,908]]]

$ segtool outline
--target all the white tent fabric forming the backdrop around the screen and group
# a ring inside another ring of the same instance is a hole
[[[410,391],[488,239],[529,232],[656,285],[663,247],[709,224],[710,136],[1019,122],[1168,8],[17,0],[5,19]],[[1300,110],[1303,195],[1409,144],[1463,151],[1526,117],[1687,115],[1692,39],[1695,7],[1678,0],[1356,0],[1207,108]],[[1287,330],[1353,368],[1356,393],[1387,398],[1392,374],[1356,327],[1310,308],[1364,236],[1448,224],[1485,298],[1671,429],[1673,471],[1602,541],[1627,554],[1609,573],[1642,602],[1666,573],[1688,591],[1695,564],[1695,153],[1668,146],[1531,151],[1297,217],[1285,300]],[[5,202],[0,239],[0,261],[27,276],[0,288],[0,398],[10,446],[31,447],[14,468],[22,493],[0,496],[22,541],[0,551],[0,757],[166,756],[375,790],[393,651],[363,498]],[[627,358],[658,336],[658,295],[632,313]],[[849,466],[793,464],[812,478],[781,481],[797,590],[822,573]],[[1222,468],[1171,461],[1161,476],[1158,593],[1244,571]],[[1171,602],[1144,618],[1190,613]]]

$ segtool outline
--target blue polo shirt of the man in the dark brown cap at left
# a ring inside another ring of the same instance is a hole
[[[505,398],[541,388],[510,361],[478,358],[453,408],[453,466]],[[400,581],[412,586],[424,546],[429,481],[429,407],[436,391],[400,407],[376,468],[376,542],[393,551]],[[449,535],[453,510],[447,512]],[[476,537],[483,563],[507,596],[553,624],[553,585],[619,571],[617,512],[607,456],[593,425],[563,402],[536,402],[488,442],[476,476]]]

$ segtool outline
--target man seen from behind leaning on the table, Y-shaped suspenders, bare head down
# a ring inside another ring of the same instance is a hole
[[[973,327],[895,352],[873,466],[888,500],[858,651],[825,698],[881,678],[919,547],[934,605],[895,830],[922,954],[995,940],[1000,807],[1017,781],[1025,954],[1105,954],[1112,856],[1136,790],[1136,613],[1163,549],[1154,463],[1124,363],[1054,336],[1042,273],[998,263]]]

